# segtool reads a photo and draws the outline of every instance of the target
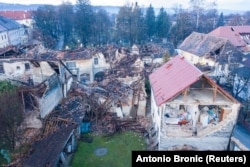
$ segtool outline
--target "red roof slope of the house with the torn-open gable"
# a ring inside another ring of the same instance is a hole
[[[175,56],[149,75],[157,105],[170,100],[198,81],[203,73],[182,56]]]

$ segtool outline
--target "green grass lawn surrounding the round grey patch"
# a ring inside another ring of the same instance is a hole
[[[95,155],[94,151],[98,147],[107,148],[107,154]],[[94,136],[92,143],[79,142],[71,166],[130,167],[132,166],[132,150],[145,150],[145,148],[143,137],[134,132],[117,133],[111,137]]]

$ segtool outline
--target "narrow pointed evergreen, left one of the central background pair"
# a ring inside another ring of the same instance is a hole
[[[151,4],[147,8],[145,20],[147,26],[147,36],[152,39],[155,35],[155,11]]]

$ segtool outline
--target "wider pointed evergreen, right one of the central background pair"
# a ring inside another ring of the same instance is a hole
[[[167,12],[162,7],[156,18],[156,36],[166,38],[170,29],[170,19]]]

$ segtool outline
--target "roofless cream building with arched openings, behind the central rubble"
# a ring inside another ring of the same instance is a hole
[[[100,78],[109,64],[101,52],[95,49],[79,49],[69,52],[44,53],[42,59],[61,60],[73,76],[82,83],[89,83]]]

